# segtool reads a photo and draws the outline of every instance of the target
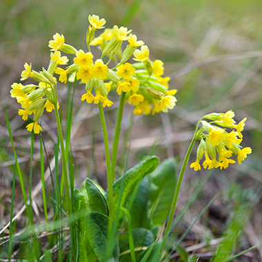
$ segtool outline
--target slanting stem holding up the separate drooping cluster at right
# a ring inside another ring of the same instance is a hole
[[[163,252],[163,249],[165,248],[165,244],[168,241],[168,235],[170,234],[170,226],[172,224],[172,219],[174,217],[174,212],[176,210],[177,199],[179,198],[179,192],[180,192],[180,189],[181,189],[183,176],[185,174],[185,168],[186,168],[186,165],[188,163],[188,159],[190,157],[190,154],[192,152],[192,149],[193,149],[193,146],[194,146],[195,142],[196,142],[196,139],[193,138],[191,143],[190,143],[190,146],[188,148],[188,152],[185,154],[185,159],[183,161],[183,165],[182,165],[182,168],[181,168],[181,171],[180,171],[180,174],[179,174],[179,180],[177,181],[177,187],[176,187],[176,190],[174,191],[174,197],[173,197],[173,201],[172,201],[172,205],[171,205],[171,209],[170,209],[170,214],[169,214],[169,217],[168,217],[168,224],[167,224],[167,226],[165,228],[165,234],[163,236],[163,243],[162,243],[162,246],[161,246],[161,253]]]

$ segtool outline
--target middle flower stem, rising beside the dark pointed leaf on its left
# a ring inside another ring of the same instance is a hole
[[[101,126],[103,130],[103,141],[105,144],[105,161],[106,161],[106,172],[108,174],[108,196],[109,196],[109,217],[114,221],[114,198],[113,198],[113,179],[111,173],[111,163],[110,163],[110,152],[108,143],[108,131],[105,125],[105,115],[103,114],[103,108],[101,101],[99,101],[99,115],[101,120]]]

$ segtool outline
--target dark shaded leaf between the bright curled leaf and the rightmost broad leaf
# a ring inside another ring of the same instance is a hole
[[[149,181],[148,177],[145,177],[141,181],[139,190],[137,190],[137,194],[130,208],[132,228],[141,228],[143,225],[145,225],[145,228],[148,228],[148,190]]]

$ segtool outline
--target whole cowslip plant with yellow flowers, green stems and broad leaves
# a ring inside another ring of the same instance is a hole
[[[17,99],[21,105],[18,113],[23,120],[27,121],[28,117],[33,115],[32,123],[26,128],[35,134],[43,132],[39,121],[45,109],[47,112],[55,112],[73,261],[161,261],[165,255],[165,245],[183,175],[195,141],[200,140],[200,144],[196,161],[190,165],[194,170],[201,170],[199,161],[204,155],[203,168],[228,168],[229,163],[235,163],[230,159],[233,154],[237,155],[241,164],[247,154],[251,153],[250,148],[241,148],[240,145],[246,119],[236,125],[234,112],[231,110],[225,114],[213,113],[202,117],[196,125],[178,180],[177,163],[174,159],[164,161],[157,168],[159,159],[148,157],[114,181],[125,102],[134,105],[135,115],[168,112],[177,102],[174,97],[177,90],[169,90],[170,79],[162,77],[163,62],[158,59],[150,60],[148,46],[145,46],[143,41],[138,41],[137,36],[131,33],[132,30],[114,26],[105,28],[99,36],[94,37],[96,30],[104,28],[105,19],[99,19],[94,14],[88,19],[90,26],[85,39],[88,50],[77,50],[65,43],[63,34],[54,34],[53,40],[49,41],[51,52],[48,68],[37,72],[32,70],[31,63],[25,63],[21,81],[31,78],[37,83],[13,83],[11,97]],[[122,50],[123,42],[126,45]],[[94,58],[91,52],[93,47],[101,50],[101,57]],[[68,65],[68,57],[61,52],[74,55],[71,59],[73,63]],[[131,64],[128,61],[132,56],[136,62]],[[114,66],[111,66],[112,63]],[[68,181],[68,170],[71,166],[69,168],[59,117],[59,81],[79,81],[85,87],[81,101],[94,103],[99,107],[105,144],[107,192],[103,192],[91,179],[86,179],[85,188],[81,191],[73,190],[74,185]],[[117,92],[121,98],[110,154],[103,108],[113,105],[110,100],[112,92]],[[203,126],[199,129],[200,123]],[[162,228],[163,232],[163,223],[167,217],[168,223],[163,240],[160,241],[159,230]]]

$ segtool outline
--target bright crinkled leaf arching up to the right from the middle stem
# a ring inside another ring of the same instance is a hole
[[[159,159],[157,157],[148,157],[125,173],[124,190],[121,197],[120,207],[125,207],[125,204],[127,203],[130,194],[132,194],[132,192],[134,191],[137,183],[139,183],[147,174],[150,174],[152,171],[154,171],[157,168],[158,164]],[[122,180],[123,177],[118,179],[113,184],[115,213],[117,213],[117,207],[119,204]],[[108,201],[108,191],[105,193],[105,199]],[[121,214],[119,214],[119,221],[121,221],[121,217],[123,217],[123,211],[121,212]]]

